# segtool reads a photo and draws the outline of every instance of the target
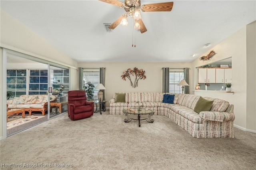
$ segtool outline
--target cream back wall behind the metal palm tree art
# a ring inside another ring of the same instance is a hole
[[[105,93],[106,100],[109,101],[113,94],[118,92],[162,92],[162,67],[191,68],[191,63],[78,63],[78,67],[106,67]],[[123,71],[134,67],[146,71],[146,79],[139,80],[136,88],[132,88],[128,79],[124,81],[121,78]],[[192,79],[191,73],[190,79]],[[109,107],[108,102],[106,106]]]

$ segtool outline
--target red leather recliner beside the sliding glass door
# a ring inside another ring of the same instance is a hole
[[[84,119],[94,113],[94,102],[86,100],[84,90],[68,91],[68,117],[71,120]]]

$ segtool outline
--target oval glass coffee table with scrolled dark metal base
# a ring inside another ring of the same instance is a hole
[[[124,119],[124,122],[130,122],[132,120],[136,120],[139,122],[139,127],[140,127],[140,121],[142,120],[146,120],[149,123],[153,123],[154,119],[151,119],[151,116],[154,115],[154,111],[150,110],[150,109],[125,109],[123,110],[124,115],[127,116],[127,119]],[[130,118],[130,115],[138,115],[138,119],[132,119]],[[140,115],[148,115],[148,118],[146,119],[140,119]]]

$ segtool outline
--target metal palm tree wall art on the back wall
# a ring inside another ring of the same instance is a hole
[[[130,75],[135,75],[134,83],[130,77]],[[143,69],[138,69],[137,67],[134,67],[134,69],[127,69],[126,71],[123,71],[123,74],[121,75],[122,79],[126,81],[126,78],[128,78],[131,82],[132,87],[138,87],[138,81],[140,79],[146,79],[145,71]]]

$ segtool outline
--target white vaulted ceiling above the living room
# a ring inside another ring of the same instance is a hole
[[[158,2],[172,1],[141,0]],[[130,18],[128,26],[106,32],[103,23],[125,11],[98,0],[1,0],[0,5],[78,62],[191,62],[256,20],[255,0],[173,2],[171,12],[141,12],[148,30],[144,34],[132,31]]]

